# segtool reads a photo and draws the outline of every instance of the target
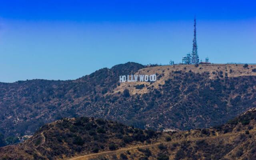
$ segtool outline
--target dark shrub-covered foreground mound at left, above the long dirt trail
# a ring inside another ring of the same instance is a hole
[[[42,126],[31,138],[0,148],[0,160],[52,160],[154,142],[160,134],[94,118],[58,120]]]

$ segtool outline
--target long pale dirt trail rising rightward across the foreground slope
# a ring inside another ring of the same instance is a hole
[[[256,132],[256,130],[250,130],[250,132]],[[229,136],[234,136],[236,134],[241,134],[244,132],[236,132],[236,133],[227,133],[227,134],[222,134],[222,135],[217,135],[217,136],[210,136],[210,137],[200,137],[200,138],[188,138],[188,139],[182,139],[182,140],[174,140],[174,141],[170,141],[170,142],[161,142],[163,144],[172,144],[172,143],[176,143],[176,142],[182,142],[182,141],[193,141],[193,140],[204,140],[204,139],[213,139],[213,138],[223,138],[223,137],[229,137]],[[130,147],[130,148],[121,148],[119,150],[113,150],[113,151],[106,151],[106,152],[100,152],[100,153],[94,153],[94,154],[87,154],[84,156],[78,156],[78,157],[74,157],[74,158],[70,158],[68,160],[89,160],[89,158],[95,158],[98,156],[102,156],[102,155],[106,155],[106,154],[117,154],[117,153],[122,153],[125,152],[127,150],[134,150],[137,148],[148,148],[148,147],[153,147],[153,146],[158,146],[160,144],[160,142],[154,143],[154,144],[149,144],[149,145],[144,145],[144,146],[134,146],[134,147]]]

